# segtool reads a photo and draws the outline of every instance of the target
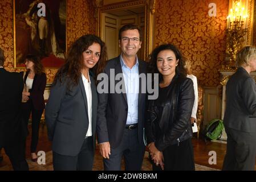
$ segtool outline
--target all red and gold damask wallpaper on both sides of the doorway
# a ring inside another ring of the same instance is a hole
[[[208,15],[209,3],[216,3],[217,16]],[[194,75],[202,86],[217,86],[218,69],[225,56],[225,27],[228,0],[157,0],[156,45],[170,42],[192,61]],[[96,19],[91,0],[67,0],[67,46],[83,34],[95,34]],[[0,46],[5,50],[5,67],[14,69],[13,1],[0,1]],[[47,69],[52,82],[56,69]]]

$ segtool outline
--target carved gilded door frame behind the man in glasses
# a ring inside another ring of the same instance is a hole
[[[145,34],[144,34],[144,55],[143,59],[147,60],[149,53],[152,51],[153,47],[153,24],[155,18],[155,0],[143,0],[143,1],[125,1],[119,3],[113,3],[110,5],[101,6],[100,3],[97,3],[97,0],[94,0],[94,6],[97,11],[96,20],[97,20],[97,30],[96,34],[102,36],[102,14],[108,13],[112,10],[124,10],[124,9],[131,9],[134,7],[145,7]]]

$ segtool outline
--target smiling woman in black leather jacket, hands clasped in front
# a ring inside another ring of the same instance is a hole
[[[159,97],[148,100],[145,124],[153,170],[194,170],[190,124],[194,89],[184,64],[172,44],[163,44],[151,54],[149,72],[159,73]]]

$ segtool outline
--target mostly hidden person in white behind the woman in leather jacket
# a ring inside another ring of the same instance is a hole
[[[187,72],[186,77],[190,78],[193,81],[194,88],[194,105],[191,114],[191,124],[196,123],[197,121],[197,106],[198,106],[198,88],[197,88],[197,77],[192,75],[191,64],[189,59],[185,59],[185,69]]]

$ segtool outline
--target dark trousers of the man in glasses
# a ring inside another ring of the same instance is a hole
[[[111,147],[111,146],[110,146]],[[124,156],[125,170],[140,171],[145,152],[145,145],[138,141],[137,128],[124,130],[123,140],[117,148],[111,148],[109,159],[104,159],[105,171],[120,171]]]

